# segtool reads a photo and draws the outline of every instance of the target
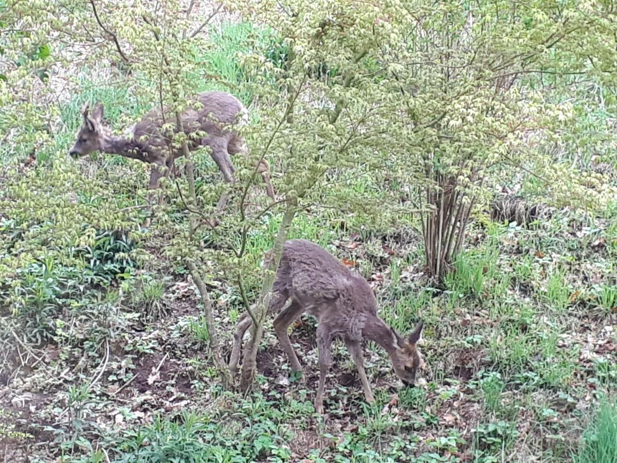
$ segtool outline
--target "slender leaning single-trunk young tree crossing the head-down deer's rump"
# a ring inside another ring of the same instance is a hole
[[[255,77],[267,81],[259,93],[262,122],[255,126],[251,149],[278,160],[283,173],[278,190],[284,196],[283,217],[267,259],[253,309],[251,339],[244,346],[240,385],[252,386],[257,349],[271,298],[275,273],[294,215],[327,181],[330,169],[357,165],[374,156],[379,125],[381,87],[375,79],[376,51],[387,35],[379,23],[377,4],[360,1],[234,2],[257,24],[267,25],[278,38],[286,59],[276,67],[261,56],[247,56]],[[272,88],[279,88],[279,96]],[[244,223],[238,258],[247,231],[246,189],[239,200]],[[232,359],[232,369],[234,362]]]

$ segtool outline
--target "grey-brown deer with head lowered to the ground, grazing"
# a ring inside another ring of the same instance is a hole
[[[288,306],[283,308],[289,301]],[[413,386],[420,365],[416,343],[423,322],[419,322],[407,339],[389,327],[377,315],[377,301],[366,280],[355,275],[336,257],[317,244],[306,240],[286,241],[281,263],[276,272],[273,298],[268,313],[278,313],[274,329],[291,368],[302,373],[296,352],[289,341],[288,328],[304,312],[317,317],[317,347],[319,351],[319,386],[315,410],[323,413],[323,391],[330,364],[331,344],[335,337],[343,339],[362,382],[366,401],[373,402],[371,386],[366,379],[362,361],[361,341],[375,341],[386,349],[394,372],[407,386]],[[251,317],[244,314],[234,335],[230,368],[238,368],[242,337],[251,327]],[[302,377],[304,382],[304,376]]]

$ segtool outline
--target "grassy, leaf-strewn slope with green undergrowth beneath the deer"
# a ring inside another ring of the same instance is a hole
[[[230,80],[239,70],[225,57],[243,33],[228,30],[208,60]],[[105,102],[116,123],[144,109],[130,91],[85,81],[83,93],[62,109],[67,130],[54,151],[72,141],[77,109],[86,98]],[[114,185],[106,188],[123,194],[123,206],[132,204],[135,185],[145,184],[143,166],[107,157],[99,167],[103,172],[91,173],[91,181],[111,180]],[[65,168],[78,175],[75,167]],[[36,169],[58,167],[41,162]],[[130,180],[123,180],[126,173]],[[369,181],[340,188],[366,194],[374,189]],[[138,237],[136,243],[126,237],[110,243],[103,235],[79,275],[61,266],[57,274],[49,265],[30,269],[31,275],[43,272],[40,281],[31,278],[40,286],[31,304],[52,313],[54,323],[60,320],[60,335],[30,347],[23,342],[22,358],[30,349],[41,360],[33,369],[15,369],[14,359],[10,373],[2,373],[3,387],[9,385],[0,395],[0,436],[7,449],[14,458],[30,454],[39,461],[60,455],[66,461],[127,462],[571,459],[599,399],[617,383],[617,206],[595,223],[564,213],[529,229],[478,216],[457,272],[437,294],[421,278],[420,236],[411,220],[386,233],[376,226],[360,228],[362,220],[353,216],[345,218],[343,230],[339,219],[338,211],[315,208],[297,218],[294,236],[356,262],[378,294],[381,315],[397,329],[404,332],[418,317],[425,320],[421,387],[397,390],[383,351],[367,346],[377,398],[368,406],[338,344],[328,378],[329,416],[315,416],[317,351],[313,321],[306,317],[291,337],[306,365],[308,386],[293,378],[290,383],[286,359],[268,330],[259,356],[259,393],[242,398],[222,391],[186,275],[162,259],[144,266],[130,259],[118,267],[118,259],[105,257],[125,251],[125,244],[155,252],[164,233]],[[5,233],[14,226],[6,223]],[[255,260],[270,243],[268,233],[252,238]],[[119,272],[125,274],[120,283],[113,277]],[[77,290],[68,298],[61,291],[46,293],[46,278],[64,285],[85,281],[84,275],[96,284],[81,299]],[[122,294],[114,293],[118,285]],[[220,275],[213,276],[211,289],[229,341],[241,307],[238,294]],[[67,299],[79,311],[60,309]],[[14,315],[2,315],[3,327],[17,326]],[[14,328],[3,333],[10,336]],[[581,462],[615,461],[597,457],[611,445],[605,428],[615,427],[615,409],[606,410],[587,433],[590,444]]]

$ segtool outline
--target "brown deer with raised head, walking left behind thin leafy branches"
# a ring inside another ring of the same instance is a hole
[[[89,111],[89,104],[83,107],[83,124],[77,133],[77,141],[70,149],[70,156],[77,159],[94,151],[102,151],[148,162],[152,164],[148,188],[158,188],[160,178],[173,169],[174,159],[183,156],[180,148],[172,147],[172,140],[163,130],[164,124],[176,127],[173,111],[167,107],[164,111],[160,108],[152,109],[130,129],[130,136],[112,135],[109,128],[102,123],[103,111],[100,103],[96,104],[93,111]],[[230,155],[247,151],[246,142],[236,131],[231,130],[231,126],[247,123],[248,117],[246,107],[235,96],[223,91],[200,93],[196,101],[180,116],[184,133],[188,136],[189,150],[209,146],[212,159],[228,183],[235,181],[235,169]],[[257,170],[266,183],[268,196],[275,199],[265,159],[259,162]],[[224,194],[217,207],[219,211],[225,206],[225,202]]]

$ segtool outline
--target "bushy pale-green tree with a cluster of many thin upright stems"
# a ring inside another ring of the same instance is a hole
[[[552,159],[545,141],[573,121],[571,76],[611,75],[610,4],[392,2],[384,15],[391,40],[378,59],[386,67],[381,83],[395,96],[382,101],[391,104],[390,152],[426,211],[430,275],[449,272],[474,205],[500,182],[495,172],[534,175],[547,196],[569,204],[608,198],[600,177]]]

